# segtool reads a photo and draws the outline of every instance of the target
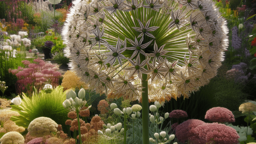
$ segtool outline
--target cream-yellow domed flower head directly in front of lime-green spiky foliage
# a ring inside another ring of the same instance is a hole
[[[28,132],[31,136],[43,137],[50,135],[51,132],[57,132],[58,124],[48,117],[39,117],[30,122]]]

